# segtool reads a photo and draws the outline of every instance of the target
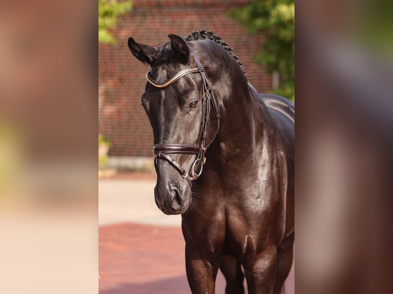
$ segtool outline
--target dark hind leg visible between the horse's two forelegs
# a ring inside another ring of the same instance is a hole
[[[244,294],[244,275],[240,262],[230,256],[224,256],[220,269],[226,280],[225,294]]]

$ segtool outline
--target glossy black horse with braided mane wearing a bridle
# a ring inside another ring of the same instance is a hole
[[[281,293],[293,259],[294,104],[258,94],[213,32],[168,36],[128,46],[151,66],[142,104],[155,203],[182,214],[191,291],[214,293],[220,268],[226,293],[244,293],[244,277],[248,293]]]

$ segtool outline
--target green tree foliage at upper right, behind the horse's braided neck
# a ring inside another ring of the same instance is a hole
[[[229,15],[249,34],[266,33],[267,42],[254,61],[265,65],[268,73],[278,72],[279,88],[274,94],[294,100],[294,0],[252,0],[234,8]]]

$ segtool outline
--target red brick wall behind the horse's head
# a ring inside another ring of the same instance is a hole
[[[226,12],[244,5],[245,0],[134,0],[128,15],[121,16],[111,30],[117,44],[99,44],[99,133],[112,142],[109,155],[152,156],[153,136],[141,106],[148,67],[134,58],[128,37],[155,46],[169,33],[186,36],[206,29],[220,35],[243,63],[250,82],[259,92],[271,90],[271,76],[263,66],[252,63],[263,35],[249,37],[244,28]]]

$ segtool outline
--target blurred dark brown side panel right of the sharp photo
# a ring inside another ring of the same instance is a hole
[[[389,293],[391,1],[296,2],[296,292]]]

